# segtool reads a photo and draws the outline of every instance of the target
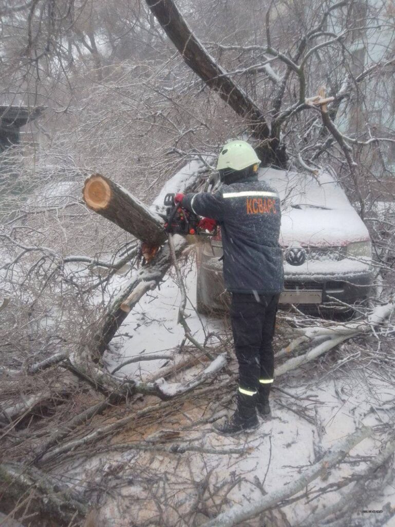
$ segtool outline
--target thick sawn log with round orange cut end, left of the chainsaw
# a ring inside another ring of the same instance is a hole
[[[165,243],[164,219],[104,175],[93,174],[85,180],[83,199],[89,209],[149,246]]]

